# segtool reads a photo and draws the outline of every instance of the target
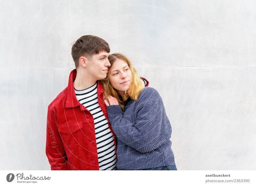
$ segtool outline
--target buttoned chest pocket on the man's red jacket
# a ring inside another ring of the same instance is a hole
[[[73,150],[79,145],[79,133],[82,132],[82,123],[68,123],[59,125],[60,136],[62,143],[66,146],[67,150]]]

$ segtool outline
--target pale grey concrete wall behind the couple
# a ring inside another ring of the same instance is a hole
[[[255,170],[255,21],[249,0],[1,1],[0,169],[50,169],[47,106],[91,34],[159,91],[179,170]]]

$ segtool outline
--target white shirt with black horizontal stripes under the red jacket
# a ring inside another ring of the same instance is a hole
[[[116,168],[114,136],[98,103],[97,83],[84,90],[75,89],[75,93],[77,100],[91,112],[94,119],[100,170],[114,170]]]

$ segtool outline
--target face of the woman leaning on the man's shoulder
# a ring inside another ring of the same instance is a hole
[[[118,59],[111,65],[109,81],[121,96],[129,89],[132,81],[132,72],[127,63]]]

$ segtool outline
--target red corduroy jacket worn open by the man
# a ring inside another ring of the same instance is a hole
[[[48,106],[46,156],[51,170],[99,170],[93,116],[76,99],[75,78],[76,69],[69,75],[68,87]],[[108,120],[99,82],[97,89],[100,108]],[[109,122],[108,126],[115,138]]]

